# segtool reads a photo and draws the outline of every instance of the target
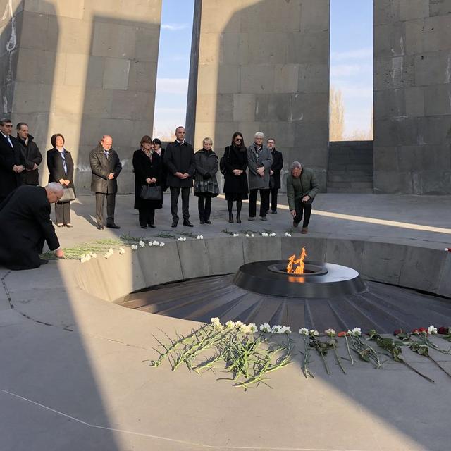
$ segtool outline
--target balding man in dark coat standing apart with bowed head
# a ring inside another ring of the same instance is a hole
[[[113,138],[105,135],[89,154],[92,170],[91,191],[96,193],[96,220],[99,230],[104,228],[105,197],[106,227],[120,228],[114,223],[114,207],[116,206],[116,192],[118,192],[116,179],[121,173],[122,165],[112,146]]]

